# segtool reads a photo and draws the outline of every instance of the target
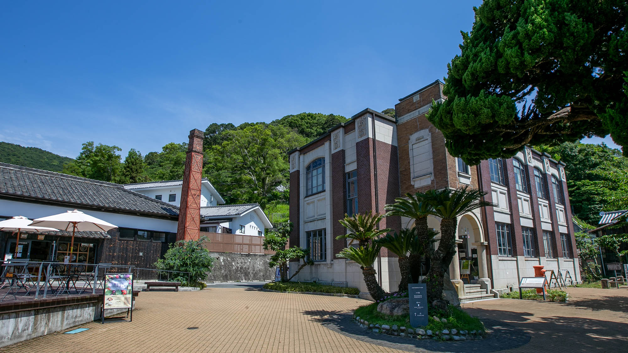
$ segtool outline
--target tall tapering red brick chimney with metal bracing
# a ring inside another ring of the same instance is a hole
[[[176,240],[198,240],[200,236],[200,182],[203,171],[203,131],[190,131],[190,143],[185,157],[183,189],[179,206]]]

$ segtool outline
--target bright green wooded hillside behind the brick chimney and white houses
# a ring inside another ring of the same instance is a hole
[[[270,123],[212,123],[205,129],[203,176],[210,178],[229,204],[257,202],[278,207],[288,200],[286,152],[344,121],[344,116],[304,112]],[[183,178],[187,143],[171,142],[144,156],[131,149],[124,161],[119,151],[117,146],[88,141],[76,160],[63,167],[63,173],[116,183]]]

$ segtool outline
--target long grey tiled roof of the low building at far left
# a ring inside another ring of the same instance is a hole
[[[35,198],[79,207],[178,216],[179,208],[124,185],[0,163],[0,196]]]

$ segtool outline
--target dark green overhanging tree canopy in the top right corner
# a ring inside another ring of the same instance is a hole
[[[428,120],[475,165],[526,144],[628,145],[625,0],[485,0]],[[624,151],[627,153],[628,151]]]

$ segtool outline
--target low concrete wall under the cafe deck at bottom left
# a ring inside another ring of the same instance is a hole
[[[133,301],[135,303],[135,301]],[[116,315],[127,309],[107,310]],[[0,347],[100,319],[100,301],[0,313]]]

